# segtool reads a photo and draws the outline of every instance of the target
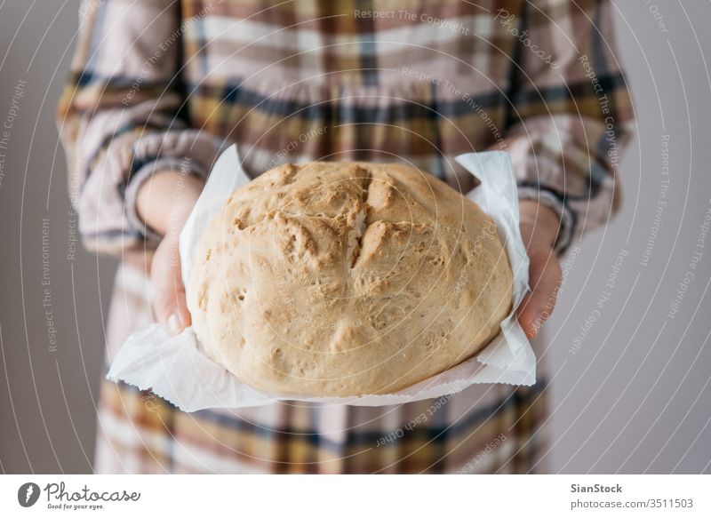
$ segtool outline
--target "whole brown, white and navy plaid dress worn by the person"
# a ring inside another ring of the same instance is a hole
[[[520,197],[561,216],[559,252],[616,207],[634,123],[609,2],[85,0],[80,20],[58,124],[92,250],[145,264],[160,236],[136,215],[140,185],[205,176],[232,143],[252,176],[406,162],[462,192],[473,179],[454,156],[506,150]],[[148,284],[119,270],[107,361],[150,321]],[[457,394],[411,430],[436,402],[188,415],[105,382],[97,470],[527,472],[544,443],[539,379]]]

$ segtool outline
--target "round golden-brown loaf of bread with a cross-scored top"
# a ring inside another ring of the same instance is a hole
[[[237,189],[188,283],[208,355],[252,387],[388,394],[499,333],[512,275],[493,220],[400,164],[285,164]]]

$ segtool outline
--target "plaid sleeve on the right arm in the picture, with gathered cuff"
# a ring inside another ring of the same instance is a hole
[[[506,141],[520,198],[560,216],[555,250],[562,253],[617,208],[615,178],[634,131],[632,103],[610,2],[524,1],[518,13],[507,18],[516,44]]]

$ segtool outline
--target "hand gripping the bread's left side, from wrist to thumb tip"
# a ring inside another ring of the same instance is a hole
[[[156,317],[171,336],[190,325],[178,238],[202,190],[202,179],[182,171],[161,171],[144,183],[138,193],[140,217],[148,227],[164,235],[153,256],[150,277]]]

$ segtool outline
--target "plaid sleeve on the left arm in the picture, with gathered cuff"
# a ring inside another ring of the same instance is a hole
[[[183,115],[180,2],[84,0],[79,25],[57,124],[83,242],[155,246],[135,212],[141,183],[166,169],[204,175],[219,147]]]

